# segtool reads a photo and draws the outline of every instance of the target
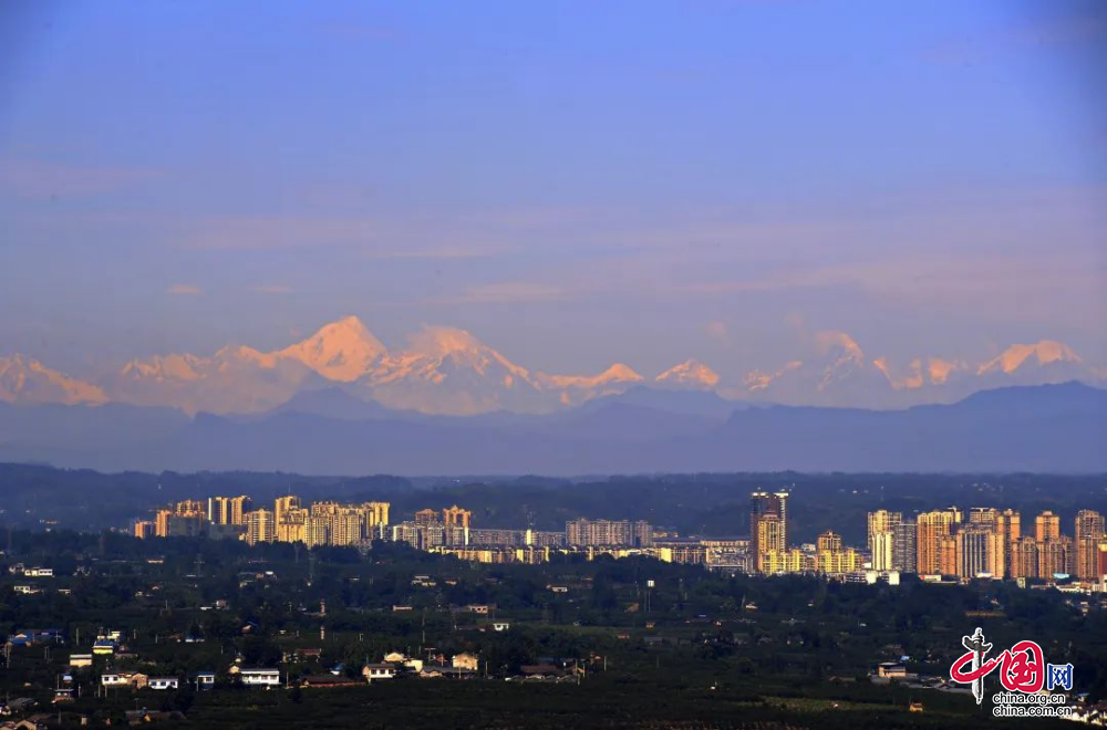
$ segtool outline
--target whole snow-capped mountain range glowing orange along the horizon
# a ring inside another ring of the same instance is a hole
[[[159,355],[126,363],[95,383],[18,354],[0,357],[0,401],[251,414],[278,408],[304,392],[341,388],[390,409],[469,416],[551,413],[641,386],[713,392],[734,400],[887,408],[952,403],[1005,385],[1107,382],[1105,371],[1048,340],[1012,345],[984,363],[928,357],[900,368],[866,355],[844,332],[820,333],[816,344],[813,358],[730,376],[694,359],[653,378],[622,363],[591,376],[554,375],[517,365],[452,327],[425,327],[410,336],[406,347],[393,351],[358,317],[348,316],[283,350],[228,345],[207,357]]]

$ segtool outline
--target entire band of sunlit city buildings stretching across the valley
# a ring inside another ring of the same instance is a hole
[[[577,519],[565,532],[489,529],[473,524],[473,513],[457,505],[425,509],[413,519],[390,523],[389,502],[358,504],[299,497],[278,498],[272,509],[255,508],[249,497],[213,497],[206,503],[184,500],[135,523],[134,534],[149,536],[227,536],[250,544],[269,542],[348,545],[368,549],[373,540],[405,542],[418,550],[483,563],[542,563],[556,554],[581,553],[589,560],[649,555],[665,562],[703,564],[733,572],[817,573],[850,580],[898,580],[900,573],[961,578],[1054,578],[1098,581],[1107,573],[1104,518],[1080,510],[1072,535],[1061,518],[1045,511],[1024,531],[1014,510],[948,508],[904,515],[877,510],[868,515],[867,549],[844,544],[826,531],[814,543],[788,540],[787,491],[749,496],[748,540],[682,539],[655,531],[644,521]]]

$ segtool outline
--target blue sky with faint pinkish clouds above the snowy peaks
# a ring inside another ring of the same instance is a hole
[[[0,6],[0,354],[1107,362],[1101,2]]]

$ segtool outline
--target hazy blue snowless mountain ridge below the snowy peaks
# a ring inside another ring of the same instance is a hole
[[[249,417],[0,404],[0,461],[351,476],[1107,471],[1107,390],[1079,383],[902,410],[730,405],[644,386],[550,415],[470,417],[391,411],[340,388]]]

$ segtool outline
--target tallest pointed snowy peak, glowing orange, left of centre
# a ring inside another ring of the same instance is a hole
[[[299,361],[329,380],[352,383],[369,373],[387,350],[361,320],[348,316],[273,354]]]

